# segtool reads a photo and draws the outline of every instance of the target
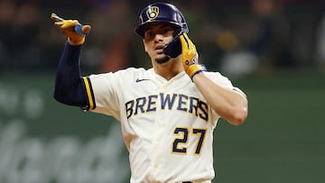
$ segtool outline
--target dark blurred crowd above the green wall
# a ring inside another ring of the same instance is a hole
[[[134,28],[155,1],[0,0],[0,73],[51,72],[65,38],[51,13],[90,24],[82,72],[150,67]],[[232,76],[273,75],[282,69],[325,73],[325,1],[181,0],[200,62]]]

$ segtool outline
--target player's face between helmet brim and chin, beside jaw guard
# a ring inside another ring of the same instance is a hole
[[[144,29],[144,50],[158,63],[167,61],[163,46],[172,41],[174,27],[168,23],[151,23]]]

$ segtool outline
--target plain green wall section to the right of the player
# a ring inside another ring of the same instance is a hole
[[[235,82],[246,91],[249,116],[239,127],[218,125],[216,182],[324,181],[325,82],[311,75]]]

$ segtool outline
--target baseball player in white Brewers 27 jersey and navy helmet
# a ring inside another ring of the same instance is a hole
[[[135,32],[152,69],[129,68],[80,77],[79,56],[90,25],[51,15],[68,37],[56,75],[60,103],[107,114],[121,124],[131,183],[207,183],[213,169],[213,130],[220,117],[239,125],[246,95],[199,63],[189,28],[174,5],[155,3],[141,12]]]

